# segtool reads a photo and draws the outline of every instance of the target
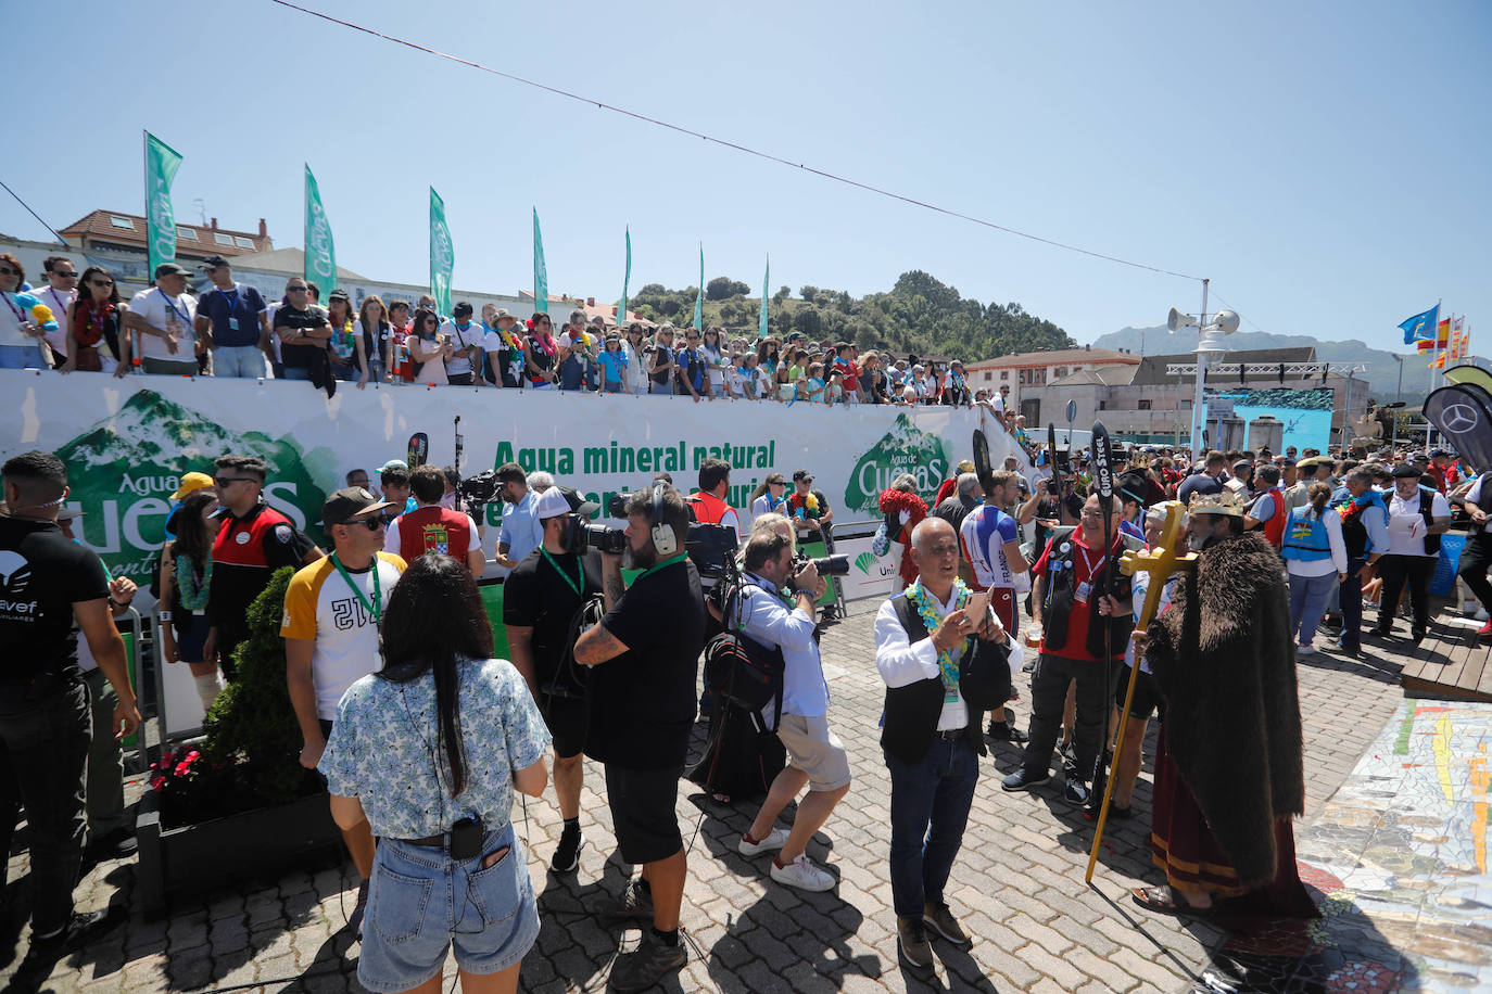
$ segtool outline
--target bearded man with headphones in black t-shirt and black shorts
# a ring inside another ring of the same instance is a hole
[[[622,557],[601,557],[606,617],[574,645],[577,663],[601,666],[591,693],[606,700],[591,711],[585,751],[606,765],[622,858],[643,867],[613,914],[652,918],[642,945],[612,969],[618,991],[646,990],[688,960],[679,942],[688,857],[674,805],[704,648],[700,574],[683,551],[688,528],[688,507],[671,486],[628,498],[625,562],[643,574],[624,593]]]

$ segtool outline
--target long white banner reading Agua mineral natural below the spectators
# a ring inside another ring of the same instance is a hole
[[[413,384],[358,390],[343,383],[328,401],[300,382],[0,370],[0,459],[30,449],[61,456],[72,486],[67,504],[84,511],[82,539],[115,575],[142,587],[184,472],[212,472],[222,455],[260,456],[270,465],[270,504],[321,539],[321,504],[349,469],[367,469],[377,486],[373,471],[403,459],[412,432],[428,434],[430,462],[449,465],[458,416],[464,475],[513,460],[552,472],[604,508],[610,495],[643,487],[658,471],[694,490],[700,462],[713,456],[731,463],[733,507],[745,511],[768,472],[791,478],[806,468],[840,522],[879,517],[877,495],[900,472],[913,474],[931,499],[958,459],[970,456],[982,419],[950,407],[789,407]],[[995,466],[1016,455],[998,426],[986,435]],[[476,517],[491,559],[501,505],[479,508]],[[852,560],[868,551],[868,539],[853,551]],[[883,563],[868,563],[861,580],[879,590],[876,584],[889,583],[883,571]]]

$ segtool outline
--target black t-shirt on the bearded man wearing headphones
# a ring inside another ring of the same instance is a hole
[[[585,753],[625,769],[682,766],[704,648],[704,595],[688,559],[633,581],[601,618],[628,651],[591,672]]]

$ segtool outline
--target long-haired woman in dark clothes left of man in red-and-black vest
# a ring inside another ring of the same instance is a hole
[[[73,325],[76,328],[76,325]],[[69,356],[76,353],[69,353]],[[161,553],[161,651],[167,663],[186,663],[203,714],[218,697],[218,665],[203,653],[207,642],[207,596],[212,592],[212,539],[218,536],[218,495],[192,490],[176,511],[176,538]]]

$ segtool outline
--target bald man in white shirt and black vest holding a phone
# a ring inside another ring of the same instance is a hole
[[[958,535],[952,525],[937,517],[918,525],[912,559],[918,581],[876,614],[876,669],[886,683],[880,744],[891,770],[897,948],[909,964],[925,967],[932,963],[928,928],[955,945],[970,942],[943,900],[943,888],[964,841],[979,757],[986,754],[979,712],[965,703],[956,680],[949,686],[941,657],[961,656],[959,647],[979,651],[970,641],[974,636],[1004,642],[1006,632],[988,611],[985,618],[970,618],[958,607]],[[938,618],[931,630],[928,612]],[[955,672],[958,663],[950,660]]]

